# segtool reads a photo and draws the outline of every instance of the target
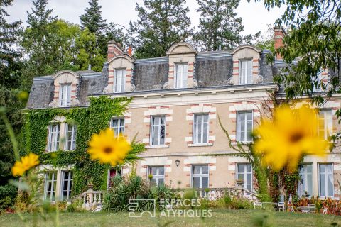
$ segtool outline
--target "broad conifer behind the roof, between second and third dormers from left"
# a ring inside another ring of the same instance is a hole
[[[129,43],[137,58],[164,56],[171,45],[193,33],[185,0],[144,0],[144,6],[136,4],[136,11],[139,19],[130,22],[134,36]]]

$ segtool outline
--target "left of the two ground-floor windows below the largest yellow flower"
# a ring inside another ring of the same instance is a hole
[[[313,165],[303,164],[300,170],[301,179],[298,181],[298,196],[313,195]]]

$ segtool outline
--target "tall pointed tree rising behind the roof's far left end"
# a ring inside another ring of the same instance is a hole
[[[52,9],[47,9],[48,0],[33,1],[32,13],[27,12],[28,27],[23,33],[21,45],[30,62],[36,65],[33,74],[53,73],[55,62],[54,33],[51,26],[56,17],[51,16]]]

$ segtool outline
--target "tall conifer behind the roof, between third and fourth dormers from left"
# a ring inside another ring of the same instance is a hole
[[[251,43],[252,35],[242,35],[242,18],[235,10],[240,0],[197,0],[200,31],[193,40],[202,50],[232,50],[242,43]],[[256,34],[258,36],[259,33]]]

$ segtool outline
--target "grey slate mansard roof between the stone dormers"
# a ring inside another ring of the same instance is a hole
[[[260,52],[259,74],[263,77],[263,84],[273,83],[274,74],[278,73],[280,63],[270,65],[266,62],[266,55],[269,50]],[[134,92],[174,92],[175,89],[163,89],[163,85],[168,82],[169,63],[168,56],[149,59],[135,60],[134,71],[132,72],[131,83],[134,84]],[[104,88],[108,86],[108,63],[104,62],[102,72],[92,70],[74,72],[80,78],[77,85],[77,106],[87,106],[89,96],[106,94]],[[232,78],[233,60],[232,52],[210,51],[198,52],[195,55],[193,79],[197,81],[197,87],[188,89],[209,89],[210,87],[230,87],[230,86],[252,86],[251,85],[231,85],[229,79]],[[54,75],[44,77],[34,77],[31,93],[26,108],[44,109],[48,108],[53,101]],[[260,85],[260,84],[259,84]],[[124,93],[120,93],[124,95]]]

